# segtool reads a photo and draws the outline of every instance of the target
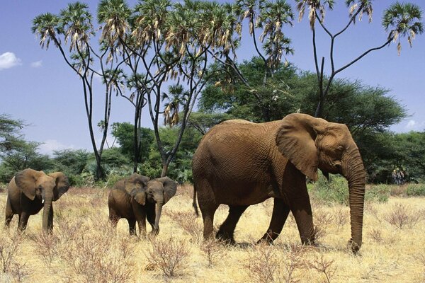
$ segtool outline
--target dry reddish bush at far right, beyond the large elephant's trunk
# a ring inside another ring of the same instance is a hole
[[[419,214],[412,212],[412,207],[400,203],[394,204],[390,212],[385,214],[384,219],[398,229],[412,227],[420,220]]]

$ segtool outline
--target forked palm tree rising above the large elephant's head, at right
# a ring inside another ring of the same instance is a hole
[[[369,23],[372,21],[373,0],[346,0],[345,4],[349,11],[348,23],[336,33],[331,33],[327,25],[324,23],[325,11],[327,8],[329,10],[334,8],[334,0],[295,0],[295,2],[297,3],[297,10],[299,11],[299,21],[301,21],[302,17],[308,9],[308,18],[310,22],[310,28],[312,30],[314,66],[316,68],[317,83],[319,85],[319,102],[317,103],[317,108],[314,113],[316,117],[322,117],[323,115],[324,103],[329,93],[331,83],[334,81],[336,74],[339,74],[339,72],[344,71],[344,69],[358,62],[358,60],[365,57],[365,55],[369,54],[370,52],[380,50],[383,47],[390,45],[391,42],[397,42],[397,52],[400,54],[402,50],[402,45],[400,42],[401,37],[407,37],[407,41],[412,47],[412,40],[414,39],[415,35],[424,32],[424,28],[421,23],[422,11],[419,6],[409,3],[399,3],[397,1],[395,4],[392,4],[384,11],[382,26],[385,28],[385,31],[387,31],[388,36],[384,40],[383,44],[366,50],[365,52],[359,54],[358,57],[354,58],[351,62],[348,62],[341,67],[336,67],[334,63],[335,40],[337,37],[339,37],[339,35],[345,33],[351,25],[356,23],[356,18],[358,18],[358,21],[361,21],[363,15],[365,14],[369,18]],[[317,54],[316,23],[319,24],[319,27],[322,28],[331,39],[329,46],[329,63],[331,66],[331,71],[328,78],[324,77],[325,58],[322,57],[319,63],[319,56]]]

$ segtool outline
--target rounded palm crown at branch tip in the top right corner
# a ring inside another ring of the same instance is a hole
[[[421,23],[421,19],[421,8],[415,4],[400,4],[397,1],[385,10],[382,25],[385,31],[390,31],[388,40],[398,41],[398,54],[402,51],[400,37],[407,36],[407,42],[412,47],[414,37],[417,34],[424,33],[424,26]]]

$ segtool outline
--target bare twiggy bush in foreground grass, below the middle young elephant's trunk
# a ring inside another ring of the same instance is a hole
[[[190,250],[185,241],[175,238],[157,239],[147,254],[150,265],[158,267],[166,277],[174,277],[188,268]]]

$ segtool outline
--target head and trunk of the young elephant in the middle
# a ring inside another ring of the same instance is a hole
[[[158,231],[159,218],[161,217],[162,206],[174,197],[177,190],[177,183],[169,177],[157,178],[147,183],[147,200],[157,204],[155,210],[154,229]]]

